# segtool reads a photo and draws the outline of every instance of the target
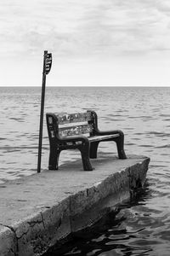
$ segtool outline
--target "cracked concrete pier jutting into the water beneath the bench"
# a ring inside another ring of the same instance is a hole
[[[82,171],[76,161],[0,184],[0,255],[42,255],[71,232],[94,224],[109,196],[116,206],[144,184],[149,162],[144,156],[101,155],[92,160],[93,172]],[[91,217],[82,221],[87,211]]]

